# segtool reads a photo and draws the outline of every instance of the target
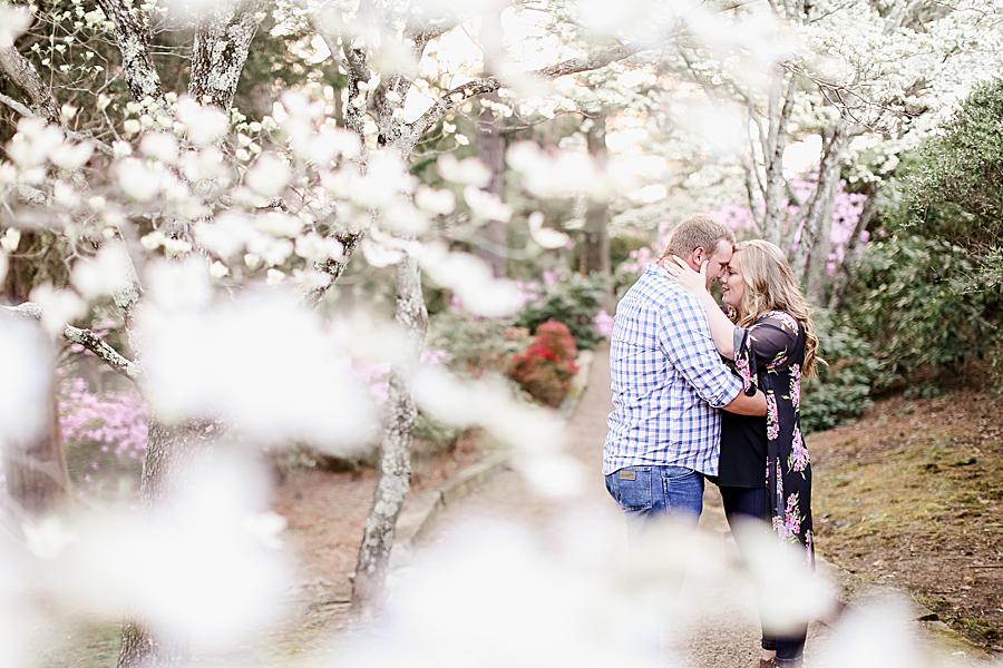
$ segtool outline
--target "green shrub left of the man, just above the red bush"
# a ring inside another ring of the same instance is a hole
[[[543,299],[528,304],[516,317],[516,324],[530,332],[547,321],[567,325],[580,350],[591,351],[603,340],[595,328],[595,316],[606,299],[608,279],[600,274],[572,274],[547,289]]]

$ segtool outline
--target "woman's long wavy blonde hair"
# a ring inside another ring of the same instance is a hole
[[[742,254],[742,277],[746,292],[742,295],[740,327],[751,327],[760,316],[770,311],[785,311],[805,327],[805,377],[815,374],[818,336],[811,320],[811,306],[801,293],[787,257],[776,244],[763,239],[739,242],[734,253]]]

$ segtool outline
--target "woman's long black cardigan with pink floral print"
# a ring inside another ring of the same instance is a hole
[[[736,371],[748,394],[756,387],[767,399],[766,484],[775,531],[805,548],[815,562],[811,534],[811,463],[801,433],[804,326],[789,313],[775,311],[750,328],[736,327]]]

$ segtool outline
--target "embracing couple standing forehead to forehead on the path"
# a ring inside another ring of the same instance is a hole
[[[722,285],[728,313],[710,293]],[[695,524],[704,480],[730,524],[761,521],[814,563],[801,379],[815,370],[810,308],[783,253],[734,243],[707,216],[680,224],[616,306],[606,489],[636,528]],[[742,532],[738,532],[743,551]],[[763,632],[761,666],[800,666],[807,628]]]

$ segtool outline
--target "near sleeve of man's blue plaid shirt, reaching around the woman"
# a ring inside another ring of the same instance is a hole
[[[686,295],[659,315],[659,344],[683,379],[715,409],[730,404],[742,382],[721,361],[700,304]]]

